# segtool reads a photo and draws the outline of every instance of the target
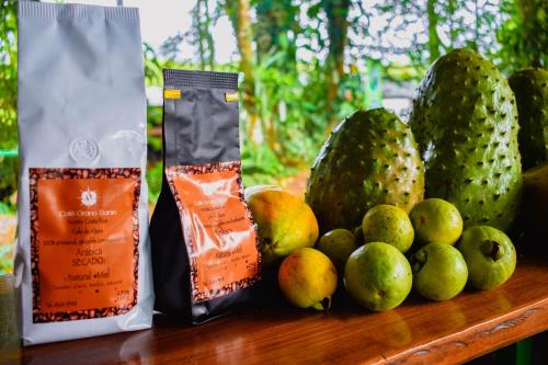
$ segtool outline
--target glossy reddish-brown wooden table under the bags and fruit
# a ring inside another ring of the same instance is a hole
[[[327,312],[265,301],[197,327],[157,316],[152,330],[11,354],[24,364],[458,363],[548,330],[548,259],[520,258],[511,281],[494,290],[466,289],[444,303],[412,295],[383,313],[344,295]]]

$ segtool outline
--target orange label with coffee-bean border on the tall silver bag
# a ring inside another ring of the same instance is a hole
[[[137,303],[140,169],[31,169],[33,320]]]

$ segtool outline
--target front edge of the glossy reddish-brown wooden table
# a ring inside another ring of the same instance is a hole
[[[548,298],[393,356],[380,354],[384,360],[376,364],[464,363],[546,330]]]

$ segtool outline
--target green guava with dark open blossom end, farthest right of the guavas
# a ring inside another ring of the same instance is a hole
[[[514,273],[516,252],[510,238],[501,230],[475,226],[463,232],[457,243],[468,266],[468,280],[478,289],[492,289]]]

